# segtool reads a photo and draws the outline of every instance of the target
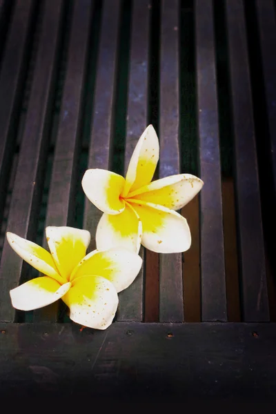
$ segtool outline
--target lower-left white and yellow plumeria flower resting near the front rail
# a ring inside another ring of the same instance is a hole
[[[10,290],[12,306],[32,311],[62,299],[70,319],[90,328],[106,329],[118,306],[117,293],[126,289],[141,268],[141,257],[121,248],[86,255],[90,233],[72,227],[47,227],[50,253],[13,233],[13,250],[45,276]]]

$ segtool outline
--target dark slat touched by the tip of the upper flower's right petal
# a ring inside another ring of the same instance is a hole
[[[195,7],[199,167],[205,183],[200,194],[201,318],[226,321],[213,1],[196,0]]]

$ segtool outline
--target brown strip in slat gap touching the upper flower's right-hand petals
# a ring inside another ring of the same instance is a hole
[[[184,253],[183,288],[185,322],[200,322],[200,238],[199,238],[199,195],[181,210],[190,226],[192,244]]]

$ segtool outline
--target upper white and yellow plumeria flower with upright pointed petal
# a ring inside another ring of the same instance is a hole
[[[97,226],[97,248],[120,246],[136,253],[141,244],[157,253],[180,253],[190,248],[190,228],[175,210],[193,199],[204,183],[190,174],[150,182],[158,160],[159,142],[150,125],[137,142],[126,179],[107,170],[85,172],[83,191],[103,211]]]

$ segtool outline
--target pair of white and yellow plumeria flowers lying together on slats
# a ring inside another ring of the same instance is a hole
[[[148,126],[132,154],[126,179],[107,170],[85,172],[84,193],[103,211],[96,232],[97,250],[88,255],[87,230],[47,227],[50,253],[7,233],[14,251],[45,275],[10,290],[14,308],[30,311],[61,298],[72,321],[106,329],[117,311],[117,293],[139,273],[141,244],[157,253],[190,248],[187,221],[175,210],[193,199],[203,182],[188,174],[151,182],[158,160],[158,138]]]

